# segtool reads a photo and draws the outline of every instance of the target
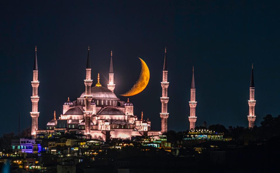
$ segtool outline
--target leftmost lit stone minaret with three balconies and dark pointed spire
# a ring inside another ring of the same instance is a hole
[[[33,81],[31,81],[32,86],[32,96],[31,96],[31,102],[32,102],[32,112],[30,112],[31,116],[31,136],[33,139],[36,138],[36,130],[38,130],[38,102],[39,102],[39,96],[38,96],[38,87],[39,87],[39,81],[38,81],[38,66],[37,66],[37,47],[35,47],[35,59],[34,59],[34,67],[33,67]]]

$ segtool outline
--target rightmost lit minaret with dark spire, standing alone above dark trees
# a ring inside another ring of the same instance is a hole
[[[249,104],[249,115],[248,115],[248,121],[249,121],[249,128],[253,128],[255,124],[255,84],[254,84],[254,71],[253,71],[253,64],[252,64],[252,73],[251,73],[251,82],[250,82],[250,100],[248,100]]]

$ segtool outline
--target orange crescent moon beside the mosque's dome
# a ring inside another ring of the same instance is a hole
[[[138,57],[139,58],[139,57]],[[133,85],[133,87],[127,91],[124,94],[121,94],[121,96],[134,96],[138,93],[141,93],[148,85],[149,80],[150,80],[150,70],[147,66],[147,64],[145,63],[145,61],[143,61],[143,59],[139,58],[141,61],[141,73],[139,76],[139,79],[137,80],[137,82]]]

